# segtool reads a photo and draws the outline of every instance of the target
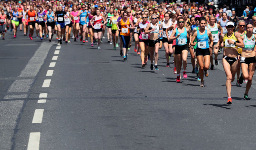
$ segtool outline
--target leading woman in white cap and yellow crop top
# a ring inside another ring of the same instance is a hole
[[[231,82],[235,79],[235,74],[237,70],[237,59],[239,59],[239,55],[237,53],[237,46],[244,47],[243,40],[241,39],[239,33],[234,32],[235,24],[231,21],[226,23],[226,28],[228,33],[222,34],[218,43],[215,45],[215,48],[219,48],[219,45],[224,42],[224,50],[223,50],[223,59],[222,64],[224,71],[226,73],[226,91],[228,94],[227,104],[232,104],[231,98]],[[238,58],[237,58],[238,57]]]

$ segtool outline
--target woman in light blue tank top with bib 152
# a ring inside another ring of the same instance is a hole
[[[197,30],[193,34],[193,38],[191,40],[191,46],[195,46],[195,39],[197,39],[197,50],[196,56],[199,63],[199,76],[201,78],[201,87],[204,87],[204,75],[208,77],[209,72],[208,69],[210,67],[210,51],[209,47],[213,45],[213,39],[211,35],[211,31],[206,27],[206,19],[204,17],[200,17],[200,29]],[[210,44],[208,41],[210,40]]]

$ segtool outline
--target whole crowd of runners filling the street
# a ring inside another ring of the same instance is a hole
[[[256,13],[250,6],[243,13],[246,23],[239,20],[235,10],[228,7],[216,9],[213,2],[198,4],[160,3],[156,1],[2,1],[0,2],[0,35],[5,39],[7,31],[24,32],[30,40],[39,38],[52,42],[56,35],[58,45],[74,42],[100,44],[104,35],[113,50],[120,48],[126,61],[127,52],[134,44],[134,52],[140,55],[141,67],[150,60],[150,69],[158,71],[158,50],[165,49],[166,67],[174,57],[173,73],[176,82],[187,78],[187,56],[190,53],[192,73],[204,87],[208,69],[218,65],[218,53],[223,50],[222,64],[226,73],[227,104],[232,104],[231,83],[246,83],[245,100],[252,85],[256,64]],[[34,34],[35,31],[35,34]],[[72,32],[72,33],[71,33]],[[71,37],[72,35],[72,37]],[[213,57],[214,56],[214,57]],[[214,63],[213,63],[214,59]],[[241,75],[240,75],[241,68]],[[182,74],[181,74],[182,73]]]

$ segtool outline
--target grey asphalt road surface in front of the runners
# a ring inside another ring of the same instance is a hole
[[[163,48],[152,71],[132,44],[123,61],[107,38],[101,50],[22,31],[0,38],[0,150],[255,149],[255,81],[250,101],[246,84],[233,82],[226,105],[222,53],[200,87],[190,56],[188,78],[176,83]]]

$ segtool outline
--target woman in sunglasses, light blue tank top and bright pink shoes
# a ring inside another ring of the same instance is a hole
[[[187,78],[187,54],[188,54],[188,47],[190,44],[187,42],[187,39],[190,37],[190,31],[188,28],[184,27],[184,18],[178,18],[177,28],[173,30],[169,41],[173,41],[176,39],[175,51],[174,51],[174,59],[176,61],[176,71],[177,71],[177,78],[176,82],[180,82],[180,70],[183,61],[183,77]],[[189,40],[190,41],[190,40]]]

